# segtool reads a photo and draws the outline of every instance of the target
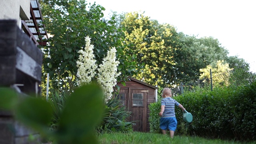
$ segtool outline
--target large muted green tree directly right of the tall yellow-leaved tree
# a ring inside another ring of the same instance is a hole
[[[226,60],[228,50],[224,49],[217,39],[212,37],[196,38],[179,33],[180,47],[176,50],[176,67],[178,81],[191,82],[200,76],[200,69]]]

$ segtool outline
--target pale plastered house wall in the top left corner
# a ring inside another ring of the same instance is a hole
[[[21,20],[30,18],[30,0],[0,0],[0,19],[15,19],[21,27]]]

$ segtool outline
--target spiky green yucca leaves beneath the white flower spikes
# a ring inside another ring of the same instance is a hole
[[[68,92],[52,92],[48,102],[52,106],[53,116],[50,124],[50,130],[57,130],[58,122],[66,100],[69,98]],[[103,120],[96,128],[97,132],[130,132],[133,122],[128,122],[131,112],[128,112],[125,106],[122,106],[118,98],[112,98],[105,104]]]

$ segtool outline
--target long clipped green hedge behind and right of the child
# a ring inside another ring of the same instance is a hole
[[[174,97],[193,115],[187,134],[207,138],[256,140],[256,82],[240,88],[214,88]],[[158,109],[156,107],[159,107]],[[159,132],[160,103],[150,104],[150,132]],[[182,134],[183,113],[176,107],[178,127]],[[157,123],[158,122],[158,123]],[[156,126],[158,125],[158,126]]]

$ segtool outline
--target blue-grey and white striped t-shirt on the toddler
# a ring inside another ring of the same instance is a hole
[[[161,106],[164,105],[164,112],[162,114],[162,118],[166,118],[166,117],[175,117],[175,111],[174,111],[174,106],[178,106],[179,103],[168,97],[168,98],[163,98],[161,101]]]

